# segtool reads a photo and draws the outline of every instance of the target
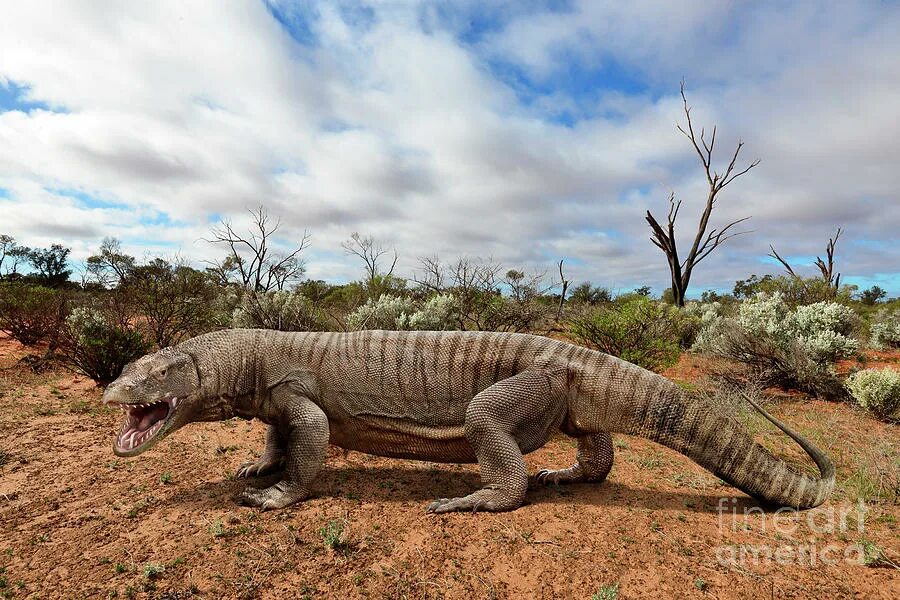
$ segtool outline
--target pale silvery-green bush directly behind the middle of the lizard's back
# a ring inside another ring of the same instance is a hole
[[[360,329],[432,330],[454,328],[458,308],[450,294],[437,294],[424,303],[382,294],[347,316],[347,327]]]

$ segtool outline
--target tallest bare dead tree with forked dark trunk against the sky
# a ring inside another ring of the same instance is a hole
[[[744,233],[749,233],[747,231],[731,231],[732,228],[746,221],[750,217],[744,217],[742,219],[737,219],[736,221],[731,221],[726,224],[724,227],[714,227],[707,231],[709,227],[709,219],[712,215],[713,209],[716,207],[716,202],[719,199],[719,193],[731,182],[733,182],[738,177],[746,174],[750,169],[759,164],[759,159],[752,161],[749,165],[742,169],[736,169],[737,160],[740,156],[741,149],[744,147],[743,141],[738,141],[737,147],[734,149],[734,153],[731,155],[731,160],[728,163],[728,166],[725,168],[725,172],[720,174],[716,171],[713,166],[713,150],[716,145],[716,126],[713,126],[712,134],[710,135],[710,139],[707,142],[706,140],[706,130],[701,128],[699,136],[696,134],[694,130],[694,124],[691,120],[691,107],[688,106],[687,98],[684,94],[684,82],[681,82],[681,100],[684,105],[684,114],[687,117],[687,130],[685,130],[681,125],[678,125],[678,131],[684,134],[687,137],[691,144],[694,146],[694,150],[697,152],[697,156],[700,157],[700,163],[703,165],[703,170],[706,173],[706,180],[709,184],[709,191],[706,196],[706,205],[703,208],[703,213],[700,215],[700,221],[697,224],[697,232],[694,235],[694,241],[691,244],[691,248],[688,251],[687,256],[682,260],[679,256],[678,247],[675,242],[675,220],[678,218],[678,209],[681,208],[681,200],[675,200],[675,193],[672,192],[669,194],[669,212],[666,215],[666,227],[663,228],[656,218],[647,211],[647,215],[645,219],[647,223],[650,224],[650,228],[653,230],[653,234],[650,237],[650,241],[653,242],[656,247],[662,250],[663,254],[666,255],[666,260],[669,263],[669,272],[672,278],[672,294],[675,299],[675,304],[677,306],[684,306],[684,297],[687,293],[688,285],[691,282],[691,275],[693,275],[694,268],[702,261],[704,258],[709,256],[709,254],[718,248],[720,245],[725,243],[727,240],[737,236],[742,235]],[[701,147],[702,146],[702,147]]]

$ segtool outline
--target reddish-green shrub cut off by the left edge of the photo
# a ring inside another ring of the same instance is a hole
[[[65,318],[63,292],[26,283],[0,283],[0,331],[25,346],[58,338]]]

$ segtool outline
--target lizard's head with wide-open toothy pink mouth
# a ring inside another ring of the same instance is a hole
[[[118,406],[125,417],[113,452],[136,456],[190,422],[192,401],[199,390],[194,359],[176,348],[164,348],[126,365],[103,393],[104,404]]]

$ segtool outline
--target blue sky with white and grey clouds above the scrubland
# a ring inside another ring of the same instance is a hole
[[[52,8],[52,10],[50,10]],[[52,18],[47,18],[52,14]],[[359,231],[418,257],[491,257],[614,289],[667,285],[643,214],[705,198],[675,129],[762,163],[698,268],[730,289],[798,270],[838,226],[845,281],[900,295],[900,8],[889,2],[19,3],[0,22],[0,233],[84,259],[219,251],[263,204],[309,275],[345,281]]]

